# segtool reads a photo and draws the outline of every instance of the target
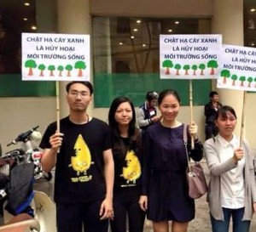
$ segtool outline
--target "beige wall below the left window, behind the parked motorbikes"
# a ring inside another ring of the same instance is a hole
[[[3,152],[18,145],[7,147],[17,135],[32,127],[40,126],[40,132],[55,120],[55,98],[0,98],[0,144]]]

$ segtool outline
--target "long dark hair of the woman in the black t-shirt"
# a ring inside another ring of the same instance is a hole
[[[123,139],[120,137],[119,124],[116,122],[114,115],[119,105],[128,102],[131,105],[132,118],[128,127],[128,144],[124,144]],[[136,112],[131,99],[125,96],[119,96],[113,99],[108,112],[108,125],[112,131],[112,142],[113,142],[113,154],[119,154],[119,156],[125,156],[127,150],[137,150],[140,146],[140,133],[136,127]],[[136,152],[137,153],[137,152]]]

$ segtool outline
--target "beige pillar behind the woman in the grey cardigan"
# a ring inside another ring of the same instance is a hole
[[[243,0],[213,0],[212,34],[222,34],[223,43],[243,46]],[[216,82],[214,82],[216,86]],[[236,110],[236,135],[241,132],[243,91],[217,89],[220,102]]]

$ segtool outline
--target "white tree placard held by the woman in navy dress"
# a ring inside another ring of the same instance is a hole
[[[217,78],[221,52],[221,35],[160,35],[160,78]]]

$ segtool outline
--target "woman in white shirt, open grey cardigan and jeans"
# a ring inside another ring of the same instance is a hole
[[[215,118],[218,135],[204,144],[210,170],[207,201],[212,232],[228,232],[232,217],[233,232],[248,232],[256,212],[256,187],[253,156],[246,141],[240,145],[233,133],[236,112],[230,106],[218,110]]]

